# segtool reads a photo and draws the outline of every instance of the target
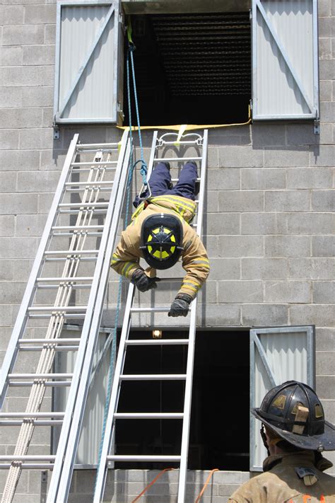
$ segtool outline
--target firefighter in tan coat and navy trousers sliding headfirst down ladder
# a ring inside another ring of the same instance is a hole
[[[136,197],[136,211],[112,255],[112,268],[140,291],[157,287],[156,270],[172,267],[181,258],[186,275],[168,316],[187,316],[209,273],[206,249],[189,225],[196,211],[197,178],[196,164],[187,162],[173,187],[169,163],[158,163],[149,180],[151,196],[145,201]],[[140,258],[149,265],[146,271]]]

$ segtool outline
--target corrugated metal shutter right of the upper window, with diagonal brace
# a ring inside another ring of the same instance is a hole
[[[313,0],[253,0],[254,119],[317,117],[314,5]]]

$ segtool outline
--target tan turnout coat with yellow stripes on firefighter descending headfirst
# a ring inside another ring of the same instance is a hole
[[[139,269],[139,259],[143,258],[140,250],[141,226],[147,216],[157,213],[172,214],[182,221],[183,239],[181,259],[186,274],[182,280],[179,294],[188,294],[195,298],[209,273],[209,261],[206,249],[189,222],[196,211],[196,204],[186,197],[176,195],[160,195],[151,197],[146,206],[143,202],[131,216],[131,223],[122,232],[121,240],[112,255],[111,267],[119,274],[131,279],[136,269]],[[146,269],[149,277],[156,272],[151,267]]]

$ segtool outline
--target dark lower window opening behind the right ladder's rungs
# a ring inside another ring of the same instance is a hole
[[[151,333],[131,331],[131,338]],[[163,331],[163,337],[187,333]],[[183,374],[187,347],[127,349],[124,374]],[[118,412],[182,412],[183,381],[124,381]],[[180,455],[182,420],[117,420],[117,454]],[[116,468],[164,468],[164,463],[115,463]],[[168,466],[179,466],[167,463]],[[191,470],[249,470],[249,332],[196,334],[189,462]]]

